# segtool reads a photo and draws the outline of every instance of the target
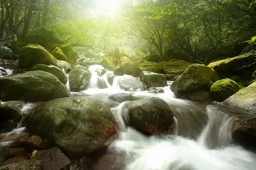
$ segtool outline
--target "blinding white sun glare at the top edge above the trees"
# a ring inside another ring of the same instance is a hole
[[[100,14],[113,15],[117,10],[120,0],[98,0],[98,12]]]

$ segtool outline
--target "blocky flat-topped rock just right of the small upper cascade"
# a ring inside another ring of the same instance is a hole
[[[143,71],[141,74],[139,74],[139,79],[150,87],[167,86],[166,77],[163,74]]]

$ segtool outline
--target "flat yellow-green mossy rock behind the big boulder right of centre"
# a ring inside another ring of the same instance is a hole
[[[181,75],[192,64],[181,59],[171,59],[169,62],[164,62],[163,70],[165,74]]]

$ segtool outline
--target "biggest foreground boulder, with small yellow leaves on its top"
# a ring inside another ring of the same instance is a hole
[[[27,117],[29,131],[73,156],[102,151],[106,141],[117,133],[116,127],[110,108],[86,96],[47,101]]]

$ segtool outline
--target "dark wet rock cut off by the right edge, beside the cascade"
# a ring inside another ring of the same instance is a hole
[[[234,120],[232,138],[242,146],[256,148],[256,117]]]

